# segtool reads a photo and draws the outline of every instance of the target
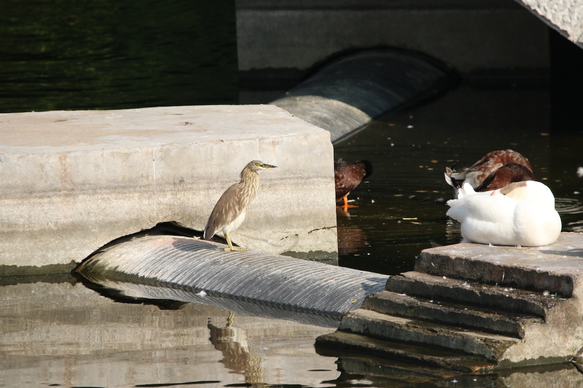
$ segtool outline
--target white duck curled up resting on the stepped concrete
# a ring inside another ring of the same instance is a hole
[[[447,215],[461,223],[465,242],[539,247],[554,243],[561,233],[553,193],[538,181],[482,193],[464,183],[458,199],[447,204]]]

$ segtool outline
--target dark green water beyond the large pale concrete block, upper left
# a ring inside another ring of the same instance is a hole
[[[0,38],[0,112],[237,103],[233,1],[2,1]]]

